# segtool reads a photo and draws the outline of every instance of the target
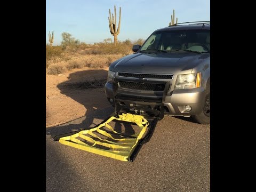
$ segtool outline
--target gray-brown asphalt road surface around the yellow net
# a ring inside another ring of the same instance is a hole
[[[46,128],[46,191],[210,191],[210,125],[165,116],[134,162],[88,153],[52,136],[99,124],[112,107]],[[185,120],[187,119],[187,120]]]

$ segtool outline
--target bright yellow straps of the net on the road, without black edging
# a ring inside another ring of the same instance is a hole
[[[101,127],[106,126],[110,131],[117,133],[117,134],[121,134],[121,133],[116,132],[113,129],[113,127],[108,125],[108,123],[113,121],[113,119],[116,119],[117,121],[126,121],[126,122],[136,123],[141,128],[141,131],[140,131],[140,133],[132,135],[133,137],[136,137],[136,138],[126,138],[123,135],[119,135],[119,137],[121,137],[121,139],[114,138],[110,133],[107,133],[106,131],[101,130]],[[71,147],[75,147],[77,149],[89,151],[94,154],[115,158],[115,159],[118,159],[121,161],[127,161],[127,159],[130,157],[130,155],[134,151],[135,147],[137,147],[139,140],[142,138],[143,134],[147,131],[147,127],[148,127],[148,121],[143,116],[132,115],[132,114],[122,114],[122,115],[119,115],[119,118],[116,118],[114,116],[110,117],[105,123],[102,123],[99,126],[94,127],[90,130],[83,130],[83,131],[80,131],[79,133],[75,133],[68,137],[60,138],[59,142],[64,145],[68,145]],[[119,141],[119,142],[102,139],[98,135],[93,133],[95,131],[97,131],[98,133],[100,133],[101,135],[103,135],[107,138],[110,138],[112,140]],[[89,134],[89,135],[91,135],[91,137],[99,139],[100,141],[96,141],[93,138],[88,137],[84,134]],[[77,138],[82,138],[85,141],[91,142],[92,146],[84,143],[83,141],[81,141]],[[105,141],[105,142],[103,142],[103,141]],[[104,147],[108,147],[111,150],[100,149],[100,148],[95,147],[95,145],[101,145]]]

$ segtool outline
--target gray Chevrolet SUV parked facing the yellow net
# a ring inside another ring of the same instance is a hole
[[[111,63],[105,92],[116,112],[210,123],[210,22],[158,29]]]

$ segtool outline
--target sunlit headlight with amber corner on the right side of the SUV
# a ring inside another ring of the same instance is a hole
[[[178,75],[174,89],[193,89],[201,86],[201,73]]]

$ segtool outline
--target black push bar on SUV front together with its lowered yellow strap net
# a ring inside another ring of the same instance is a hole
[[[161,100],[118,94],[118,85],[113,84],[115,95],[113,116],[109,116],[90,129],[56,135],[54,141],[120,161],[133,162],[142,145],[152,137],[158,120],[164,117],[163,101],[170,87],[169,82],[164,83],[165,89]],[[148,107],[149,105],[145,105],[147,103],[154,107]],[[138,125],[140,132],[132,135],[118,133],[109,125],[111,121]]]

